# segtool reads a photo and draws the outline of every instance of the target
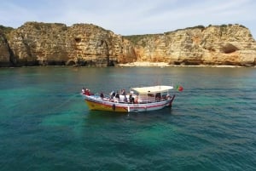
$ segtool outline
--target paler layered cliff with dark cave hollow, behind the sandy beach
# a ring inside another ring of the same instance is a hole
[[[174,65],[255,66],[256,43],[241,25],[195,26],[158,35],[126,37],[137,60]]]

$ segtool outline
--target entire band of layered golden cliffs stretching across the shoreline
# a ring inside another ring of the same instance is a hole
[[[195,26],[122,37],[99,26],[27,22],[0,27],[0,66],[114,66],[134,61],[255,66],[256,43],[240,25]]]

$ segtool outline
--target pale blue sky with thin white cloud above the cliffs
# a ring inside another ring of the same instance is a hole
[[[6,0],[0,25],[27,21],[94,24],[123,36],[240,24],[256,38],[255,0]]]

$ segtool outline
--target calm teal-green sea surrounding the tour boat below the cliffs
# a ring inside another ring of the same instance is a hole
[[[172,109],[89,111],[79,95],[183,85]],[[0,170],[256,170],[256,68],[0,68]]]

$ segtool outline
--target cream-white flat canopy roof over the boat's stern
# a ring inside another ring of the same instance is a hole
[[[138,94],[154,94],[154,93],[167,92],[170,89],[173,89],[173,87],[158,85],[158,86],[151,86],[151,87],[131,88],[131,91],[136,91]]]

